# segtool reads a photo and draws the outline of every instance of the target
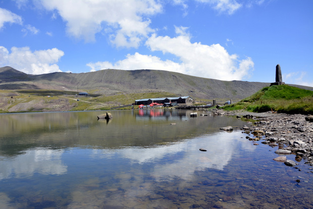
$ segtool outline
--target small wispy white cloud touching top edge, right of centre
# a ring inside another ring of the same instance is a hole
[[[220,13],[228,13],[229,15],[236,12],[242,7],[241,4],[237,3],[236,0],[195,0],[201,3],[208,3],[213,6],[215,10]]]

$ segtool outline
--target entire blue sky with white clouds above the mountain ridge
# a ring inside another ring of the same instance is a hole
[[[311,0],[0,0],[0,67],[313,86]]]

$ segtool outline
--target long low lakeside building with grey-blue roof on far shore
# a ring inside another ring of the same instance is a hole
[[[135,105],[150,105],[151,103],[177,103],[186,105],[192,103],[193,99],[190,96],[180,96],[180,97],[166,97],[166,98],[144,98],[136,99]]]

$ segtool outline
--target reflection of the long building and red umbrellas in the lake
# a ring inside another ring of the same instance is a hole
[[[140,109],[136,120],[187,120],[186,112],[179,110],[165,111],[164,109]]]

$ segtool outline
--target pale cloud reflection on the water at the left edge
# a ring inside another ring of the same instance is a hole
[[[67,172],[62,164],[63,151],[52,149],[27,150],[14,159],[0,161],[0,180],[6,178],[24,178],[34,173],[43,175],[60,175]]]

